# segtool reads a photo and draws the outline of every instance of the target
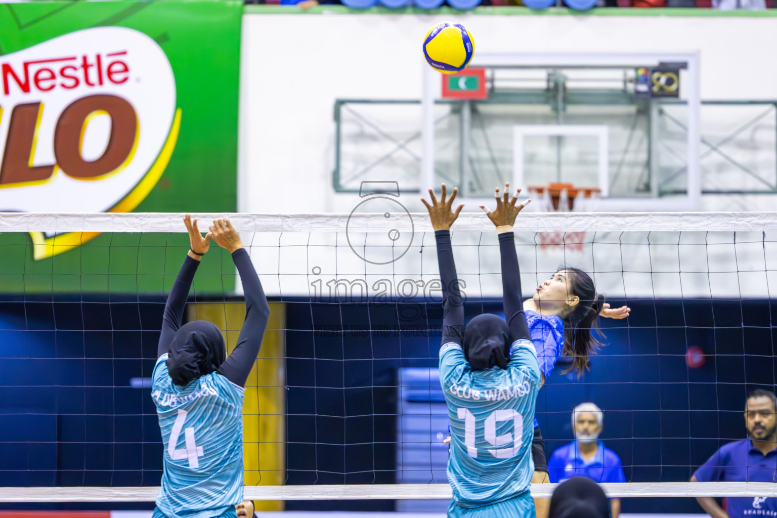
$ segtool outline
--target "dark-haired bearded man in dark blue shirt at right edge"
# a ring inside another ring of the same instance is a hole
[[[758,389],[747,396],[744,424],[749,439],[728,443],[717,450],[691,477],[692,482],[777,482],[777,399],[774,392]],[[777,516],[777,499],[737,496],[696,499],[713,518]]]

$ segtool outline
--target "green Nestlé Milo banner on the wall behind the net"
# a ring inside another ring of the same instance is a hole
[[[235,211],[241,14],[231,0],[0,3],[0,211]],[[0,235],[0,291],[155,291],[181,247]]]

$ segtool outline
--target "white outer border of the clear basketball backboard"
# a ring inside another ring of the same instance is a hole
[[[685,66],[681,95],[685,99],[685,102],[688,106],[688,141],[686,147],[686,161],[688,164],[686,176],[687,194],[685,196],[665,196],[659,198],[611,198],[605,195],[605,190],[603,189],[602,196],[597,200],[595,209],[601,211],[626,212],[699,210],[702,195],[702,182],[701,171],[699,169],[699,149],[701,148],[699,116],[701,98],[699,92],[698,51],[627,53],[601,52],[587,54],[574,54],[565,52],[531,52],[520,54],[482,53],[475,54],[475,57],[472,60],[472,66],[479,67],[546,66],[563,68],[565,66],[579,67],[600,65],[637,68],[656,66],[660,63],[672,63]],[[434,101],[437,99],[437,96],[439,96],[440,91],[440,73],[430,68],[426,61],[423,61],[422,66],[423,78],[421,92],[421,142],[423,155],[421,156],[421,192],[423,192],[429,186],[434,186],[435,183]],[[601,185],[608,186],[608,182],[601,183]],[[521,182],[518,182],[517,186],[520,186],[521,188],[526,187]],[[470,200],[472,201],[472,199]]]

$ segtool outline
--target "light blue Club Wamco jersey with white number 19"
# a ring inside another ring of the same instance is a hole
[[[440,348],[440,382],[451,419],[448,481],[461,507],[486,506],[526,491],[534,473],[535,400],[540,386],[537,353],[517,340],[507,369],[473,372],[462,346]]]

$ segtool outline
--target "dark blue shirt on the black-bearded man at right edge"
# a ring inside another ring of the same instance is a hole
[[[749,439],[723,445],[694,473],[700,482],[777,482],[777,450],[762,454]],[[726,499],[731,518],[777,516],[777,499],[735,496]]]

